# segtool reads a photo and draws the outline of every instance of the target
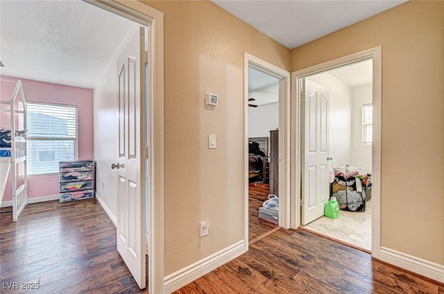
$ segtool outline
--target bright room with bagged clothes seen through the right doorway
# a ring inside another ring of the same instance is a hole
[[[301,81],[302,82],[302,81]],[[321,214],[308,217],[305,194],[302,226],[364,250],[371,250],[372,181],[372,88],[373,62],[368,59],[305,77],[305,95],[310,86],[324,91],[326,104],[327,172],[329,190],[325,201],[334,197],[339,203],[339,217]],[[310,98],[307,98],[310,99]],[[305,100],[305,118],[307,104]],[[307,120],[305,120],[307,122]],[[307,126],[306,126],[307,127]],[[306,128],[307,129],[307,128]],[[307,131],[305,132],[307,138]],[[305,142],[307,148],[307,141]],[[305,151],[308,151],[305,149]],[[324,162],[324,160],[322,160]],[[305,166],[309,165],[308,161]],[[305,188],[307,190],[307,188]],[[321,215],[321,217],[319,217]]]

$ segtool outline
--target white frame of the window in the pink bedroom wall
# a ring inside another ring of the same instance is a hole
[[[28,126],[26,126],[26,154],[28,154],[28,144],[30,143],[30,141],[32,140],[49,140],[49,141],[61,141],[61,140],[69,140],[69,141],[73,141],[74,142],[74,160],[78,160],[78,105],[72,105],[72,104],[60,104],[60,103],[53,103],[53,102],[34,102],[34,101],[27,101],[26,102],[26,107],[27,107],[27,111],[26,111],[26,120],[28,123],[31,122],[31,120],[29,119],[28,115],[31,113],[30,107],[29,105],[39,105],[39,106],[53,106],[53,107],[67,107],[67,108],[74,108],[75,109],[75,113],[76,113],[76,137],[74,139],[71,138],[54,138],[54,137],[38,137],[38,138],[32,138],[32,136],[30,136],[29,134],[29,129]],[[32,107],[32,106],[31,106]],[[27,155],[28,157],[28,155]],[[31,171],[31,160],[29,160],[29,158],[26,158],[26,169],[28,170],[28,177],[38,177],[38,176],[53,176],[58,174],[58,170],[54,171],[54,172],[44,172],[44,173],[39,173],[39,174],[30,174]]]

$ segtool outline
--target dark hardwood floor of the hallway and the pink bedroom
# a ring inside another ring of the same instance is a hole
[[[95,199],[30,204],[15,223],[7,211],[0,210],[0,293],[147,293],[119,256],[116,229]],[[22,289],[22,282],[39,288]],[[444,294],[444,284],[280,228],[175,293]]]

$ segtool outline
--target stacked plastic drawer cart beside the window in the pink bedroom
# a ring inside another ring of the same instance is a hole
[[[60,203],[94,198],[94,161],[59,163]]]

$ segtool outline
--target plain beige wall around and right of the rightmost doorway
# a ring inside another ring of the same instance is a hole
[[[291,71],[382,45],[382,246],[444,264],[444,1],[409,1],[291,51]]]

